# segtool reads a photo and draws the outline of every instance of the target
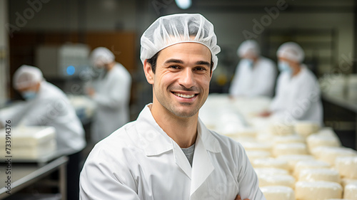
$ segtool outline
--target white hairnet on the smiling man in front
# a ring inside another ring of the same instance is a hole
[[[140,59],[151,58],[162,49],[176,43],[194,42],[206,46],[212,55],[213,69],[218,63],[217,45],[213,24],[201,14],[173,14],[162,16],[149,26],[141,36]]]

